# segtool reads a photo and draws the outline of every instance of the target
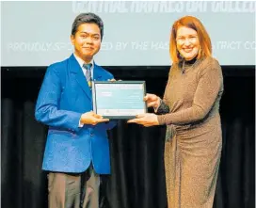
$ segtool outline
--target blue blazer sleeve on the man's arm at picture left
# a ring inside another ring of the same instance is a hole
[[[38,101],[36,104],[36,120],[49,125],[79,131],[81,113],[59,109],[59,100],[62,90],[61,73],[56,65],[47,69],[44,76]]]

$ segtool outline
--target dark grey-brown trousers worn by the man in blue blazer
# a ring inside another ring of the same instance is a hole
[[[92,166],[83,173],[48,174],[48,208],[99,208],[100,176]]]

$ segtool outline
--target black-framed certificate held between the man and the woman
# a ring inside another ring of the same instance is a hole
[[[93,111],[106,119],[133,119],[147,113],[145,94],[145,81],[94,81]]]

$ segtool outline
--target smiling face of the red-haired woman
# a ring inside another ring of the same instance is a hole
[[[191,60],[198,56],[200,42],[196,30],[186,26],[180,26],[177,30],[177,49],[185,60]]]

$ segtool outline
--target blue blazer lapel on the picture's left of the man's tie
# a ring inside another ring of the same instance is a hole
[[[73,55],[70,57],[70,62],[71,62],[70,72],[75,73],[75,79],[76,79],[77,83],[84,90],[84,92],[88,96],[88,99],[91,101],[91,90],[88,87],[87,78],[84,75],[80,65],[78,64],[77,60],[75,59],[75,57]]]

